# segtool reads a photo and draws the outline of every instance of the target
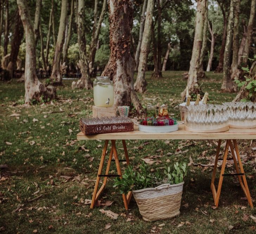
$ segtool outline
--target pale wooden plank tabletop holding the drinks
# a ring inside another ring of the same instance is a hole
[[[256,128],[236,129],[230,128],[226,132],[197,133],[184,130],[184,124],[179,126],[179,130],[167,133],[141,132],[134,125],[133,132],[117,132],[97,135],[77,134],[78,140],[165,140],[165,139],[256,139]]]

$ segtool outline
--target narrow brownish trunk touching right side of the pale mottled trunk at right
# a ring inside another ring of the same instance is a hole
[[[231,80],[238,79],[240,70],[238,69],[238,50],[239,50],[239,13],[240,0],[236,2],[235,20],[233,29],[233,56],[231,64]]]

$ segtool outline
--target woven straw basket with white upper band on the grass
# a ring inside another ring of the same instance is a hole
[[[134,190],[133,196],[143,220],[154,221],[179,215],[183,184],[162,184],[156,188]]]

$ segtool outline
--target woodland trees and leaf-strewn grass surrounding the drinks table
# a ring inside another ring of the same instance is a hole
[[[192,98],[209,92],[211,104],[255,101],[256,0],[0,3],[0,232],[255,233],[256,208],[236,178],[225,178],[213,206],[216,141],[127,141],[135,168],[142,159],[152,170],[189,164],[180,216],[150,223],[133,199],[124,210],[111,180],[100,207],[89,209],[103,142],[76,134],[79,119],[92,115],[101,74],[114,82],[116,105],[137,117],[166,103],[180,119],[174,107],[186,85]],[[255,204],[256,143],[238,143]]]

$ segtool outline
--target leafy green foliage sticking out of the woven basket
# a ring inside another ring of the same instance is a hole
[[[128,193],[131,190],[139,190],[144,188],[154,188],[161,183],[179,184],[183,182],[184,177],[187,175],[186,163],[175,163],[174,169],[168,167],[165,169],[164,174],[156,170],[155,173],[151,172],[149,166],[144,162],[140,165],[140,171],[135,171],[133,166],[129,165],[124,170],[122,178],[115,179],[114,188],[118,187],[120,193]]]

